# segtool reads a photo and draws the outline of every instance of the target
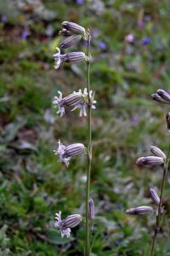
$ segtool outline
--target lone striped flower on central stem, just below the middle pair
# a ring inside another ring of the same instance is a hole
[[[75,143],[69,146],[65,146],[60,142],[60,140],[58,141],[58,148],[54,150],[54,154],[59,155],[59,161],[64,162],[66,167],[69,166],[69,161],[72,157],[84,152],[85,147],[82,143]]]

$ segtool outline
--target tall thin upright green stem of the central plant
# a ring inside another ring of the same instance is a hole
[[[90,254],[90,227],[88,218],[88,201],[90,194],[90,172],[92,165],[92,113],[90,102],[90,32],[88,33],[88,172],[87,172],[87,187],[86,187],[86,245],[85,256]]]

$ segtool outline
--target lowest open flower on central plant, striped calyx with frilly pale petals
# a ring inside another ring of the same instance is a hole
[[[82,221],[82,216],[79,214],[68,215],[65,219],[61,219],[61,212],[55,213],[54,227],[59,228],[61,237],[71,236],[71,228],[76,227]]]

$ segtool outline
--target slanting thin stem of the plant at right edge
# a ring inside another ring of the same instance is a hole
[[[166,176],[167,176],[167,171],[168,171],[168,166],[169,166],[169,161],[170,161],[169,156],[170,156],[170,145],[169,145],[168,154],[167,154],[167,161],[164,164],[164,168],[163,168],[163,177],[162,177],[162,180],[161,180],[160,203],[159,203],[159,207],[158,207],[158,213],[157,213],[157,216],[156,216],[156,228],[155,228],[155,233],[154,233],[154,237],[153,237],[153,240],[152,240],[150,256],[154,255],[154,250],[155,250],[155,245],[156,245],[156,236],[159,233],[159,230],[161,229],[160,220],[161,220],[161,215],[162,215],[162,195],[163,195],[165,179],[166,179]]]

